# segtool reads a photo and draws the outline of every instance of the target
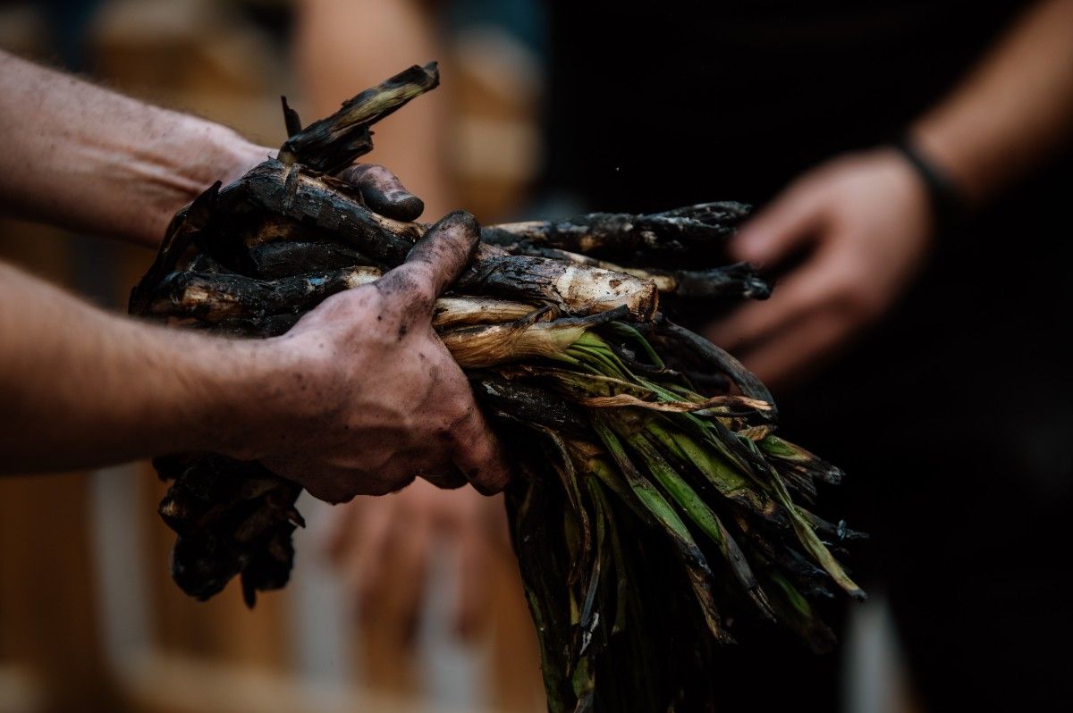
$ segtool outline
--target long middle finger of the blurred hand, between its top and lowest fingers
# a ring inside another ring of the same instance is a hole
[[[806,263],[763,302],[752,302],[710,325],[704,336],[732,352],[778,335],[834,297],[832,268],[824,259]]]

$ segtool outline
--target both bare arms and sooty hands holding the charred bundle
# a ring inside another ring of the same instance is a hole
[[[206,185],[270,154],[219,124],[4,53],[0,90],[0,117],[17,139],[0,158],[0,203],[82,232],[157,244]],[[380,166],[351,166],[340,178],[389,218],[422,212]],[[0,265],[0,401],[9,406],[0,470],[211,450],[263,458],[333,502],[397,490],[415,475],[499,490],[506,469],[429,324],[476,240],[471,217],[449,216],[406,265],[263,342],[106,315]]]

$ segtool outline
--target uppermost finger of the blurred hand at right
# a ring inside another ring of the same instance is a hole
[[[823,206],[813,190],[789,189],[738,229],[727,246],[731,255],[758,265],[783,262],[823,227]]]

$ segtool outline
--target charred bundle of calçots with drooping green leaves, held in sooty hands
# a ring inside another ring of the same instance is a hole
[[[427,226],[371,212],[329,174],[437,84],[435,64],[411,68],[305,130],[284,103],[279,159],[176,216],[131,312],[269,337],[400,264]],[[805,507],[840,472],[775,435],[763,384],[658,311],[660,294],[712,308],[767,296],[746,265],[674,269],[718,255],[746,212],[485,227],[437,302],[436,329],[517,464],[509,518],[553,711],[703,710],[718,685],[705,662],[732,626],[766,619],[822,649],[815,597],[863,596],[832,554],[853,533]],[[211,454],[156,465],[179,586],[207,598],[239,575],[252,605],[286,582],[297,485]]]

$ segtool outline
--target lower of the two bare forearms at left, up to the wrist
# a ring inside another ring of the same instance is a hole
[[[0,472],[242,454],[278,373],[263,342],[108,314],[2,263],[0,363]]]

